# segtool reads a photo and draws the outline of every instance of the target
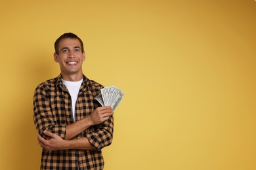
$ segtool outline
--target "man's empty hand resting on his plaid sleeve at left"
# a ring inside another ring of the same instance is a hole
[[[51,137],[51,139],[45,140],[43,139],[43,137],[37,134],[37,141],[42,148],[50,151],[65,149],[64,147],[65,141],[62,139],[62,137],[56,135],[55,133],[51,133],[50,131],[43,131],[43,133]]]

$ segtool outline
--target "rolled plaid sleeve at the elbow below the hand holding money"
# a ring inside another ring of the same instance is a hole
[[[86,137],[89,140],[89,143],[91,143],[97,150],[110,145],[113,139],[113,127],[114,118],[112,114],[108,120],[96,128],[96,131],[87,133]]]

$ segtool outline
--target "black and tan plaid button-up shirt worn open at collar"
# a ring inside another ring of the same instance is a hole
[[[102,85],[83,75],[77,102],[75,120],[89,116],[93,109],[99,107],[95,100]],[[49,139],[43,131],[56,133],[63,139],[66,125],[74,123],[72,118],[72,101],[68,89],[61,80],[61,75],[43,82],[35,89],[33,98],[33,120],[38,133]],[[104,160],[101,148],[112,143],[113,117],[97,126],[91,126],[74,138],[87,137],[93,150],[42,150],[41,169],[103,169]]]

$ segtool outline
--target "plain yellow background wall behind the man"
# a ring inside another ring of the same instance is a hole
[[[0,169],[39,169],[33,91],[58,76],[53,43],[84,42],[83,71],[125,92],[106,170],[256,169],[256,1],[0,3]]]

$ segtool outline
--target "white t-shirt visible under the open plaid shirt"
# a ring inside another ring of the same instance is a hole
[[[79,80],[78,82],[70,82],[67,80],[63,80],[61,79],[63,84],[68,88],[68,92],[71,95],[71,99],[72,99],[72,114],[73,114],[73,118],[74,118],[74,122],[75,122],[75,103],[77,101],[77,95],[80,89],[80,86],[83,82],[82,80]]]

